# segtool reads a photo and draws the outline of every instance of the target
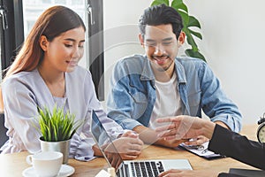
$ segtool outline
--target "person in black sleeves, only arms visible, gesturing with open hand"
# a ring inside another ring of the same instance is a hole
[[[170,123],[168,126],[157,127],[155,129],[155,131],[159,133],[158,136],[160,138],[166,140],[187,140],[197,137],[198,135],[203,135],[210,139],[208,150],[265,170],[264,143],[248,140],[246,136],[239,135],[238,133],[232,132],[206,119],[177,116],[173,118],[157,119],[157,122]],[[216,176],[216,174],[209,171],[198,172],[172,169],[159,175],[159,177],[162,176]],[[218,176],[235,175],[220,173]]]

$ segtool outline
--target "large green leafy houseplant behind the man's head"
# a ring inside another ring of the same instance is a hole
[[[154,0],[151,6],[159,4],[166,4],[168,6],[171,6],[181,15],[184,26],[182,30],[186,34],[187,43],[192,47],[192,49],[185,50],[186,55],[193,58],[201,58],[202,60],[206,61],[193,38],[193,36],[195,36],[202,40],[201,33],[193,31],[192,29],[194,27],[201,29],[201,24],[198,19],[189,14],[188,8],[186,4],[183,3],[183,0],[173,0],[171,1],[171,3],[170,0]]]

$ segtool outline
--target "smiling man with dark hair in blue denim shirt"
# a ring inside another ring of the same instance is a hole
[[[139,27],[146,55],[117,62],[110,81],[108,116],[140,133],[144,142],[167,147],[185,140],[157,139],[157,118],[181,114],[201,117],[202,109],[216,124],[239,132],[238,107],[224,95],[208,65],[197,58],[177,58],[186,38],[178,12],[164,4],[149,7],[140,17]],[[187,143],[206,141],[198,136]]]

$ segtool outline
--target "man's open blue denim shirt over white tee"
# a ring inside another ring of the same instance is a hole
[[[242,118],[237,105],[225,96],[220,81],[204,61],[176,58],[174,71],[183,114],[201,117],[203,111],[212,121],[220,120],[232,131],[240,131]],[[155,75],[147,56],[119,60],[110,79],[108,116],[125,129],[148,127],[155,99]]]

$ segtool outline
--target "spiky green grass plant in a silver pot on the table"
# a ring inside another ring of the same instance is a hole
[[[67,164],[72,135],[81,126],[82,121],[75,121],[75,114],[71,114],[69,111],[64,113],[64,107],[58,108],[57,105],[54,106],[52,112],[48,107],[38,110],[42,151],[62,152],[64,154],[63,163]]]

